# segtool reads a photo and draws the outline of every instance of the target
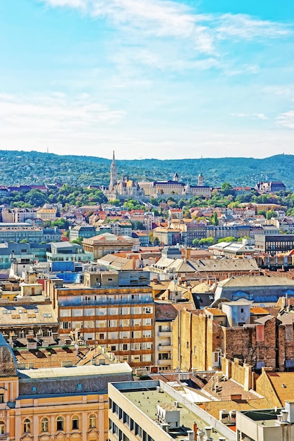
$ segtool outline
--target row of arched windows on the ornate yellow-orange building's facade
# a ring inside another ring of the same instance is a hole
[[[41,423],[41,432],[49,432],[49,418],[44,416],[40,420]],[[90,414],[88,418],[88,428],[96,428],[97,418],[95,414]],[[65,418],[63,416],[58,416],[56,418],[56,431],[62,431],[65,427]],[[71,418],[71,430],[78,430],[80,428],[80,417],[74,415]],[[0,434],[3,435],[5,433],[5,426],[2,421],[0,421]],[[25,418],[23,420],[23,433],[32,433],[32,421],[30,418]]]

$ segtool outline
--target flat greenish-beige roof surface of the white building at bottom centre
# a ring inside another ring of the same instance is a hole
[[[144,386],[144,383],[142,383],[142,386]],[[205,427],[210,426],[209,423],[202,420],[202,418],[187,409],[183,404],[179,403],[178,407],[176,407],[175,398],[166,392],[159,392],[156,388],[149,390],[121,390],[121,393],[140,409],[140,411],[151,418],[152,421],[157,421],[158,404],[164,409],[180,411],[180,428],[169,430],[169,435],[171,435],[174,440],[187,440],[187,430],[193,430],[193,423],[197,424],[199,430],[204,430]],[[224,435],[215,431],[212,432],[210,436],[213,440],[219,440],[219,437]]]

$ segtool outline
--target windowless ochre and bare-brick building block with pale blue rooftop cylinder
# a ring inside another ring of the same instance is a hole
[[[217,370],[221,357],[288,371],[294,366],[294,313],[240,299],[222,309],[182,310],[173,323],[173,368]],[[276,342],[273,344],[273,342]]]

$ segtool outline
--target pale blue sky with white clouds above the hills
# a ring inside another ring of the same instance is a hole
[[[294,2],[0,0],[0,149],[294,154]]]

